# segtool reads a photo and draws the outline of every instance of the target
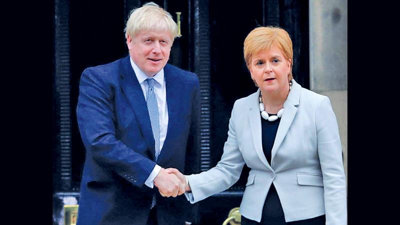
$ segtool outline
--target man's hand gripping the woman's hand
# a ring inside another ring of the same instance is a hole
[[[185,188],[175,174],[167,173],[164,168],[161,168],[157,176],[155,176],[154,185],[158,188],[161,196],[164,197],[176,197],[182,194]]]

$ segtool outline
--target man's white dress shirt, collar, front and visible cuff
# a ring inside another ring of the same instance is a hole
[[[146,81],[149,78],[141,69],[130,59],[130,65],[136,74],[137,80],[139,81],[141,90],[143,91],[144,99],[147,97],[148,83]],[[159,149],[162,149],[164,145],[164,140],[166,136],[166,130],[168,128],[168,107],[166,104],[166,89],[165,89],[165,79],[164,79],[164,69],[162,68],[157,72],[152,78],[154,78],[154,94],[157,98],[158,105],[158,118],[159,118]],[[161,166],[155,165],[150,175],[147,177],[144,184],[148,187],[153,188],[154,178],[157,176],[158,172],[161,170]]]

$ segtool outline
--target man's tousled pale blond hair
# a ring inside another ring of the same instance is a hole
[[[154,2],[148,2],[130,11],[126,21],[125,38],[133,37],[141,31],[169,31],[172,40],[178,37],[178,27],[171,14]]]

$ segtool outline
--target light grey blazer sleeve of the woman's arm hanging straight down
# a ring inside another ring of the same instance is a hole
[[[336,116],[324,96],[315,115],[317,150],[322,170],[326,224],[346,224],[346,179]]]

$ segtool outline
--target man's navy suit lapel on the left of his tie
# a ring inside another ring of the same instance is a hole
[[[151,159],[154,160],[154,136],[151,129],[150,117],[148,115],[146,100],[144,99],[143,91],[141,90],[139,81],[130,65],[129,55],[122,59],[120,66],[120,84],[123,93],[128,99],[133,112],[136,115],[137,122],[143,133],[144,139],[149,146]]]

